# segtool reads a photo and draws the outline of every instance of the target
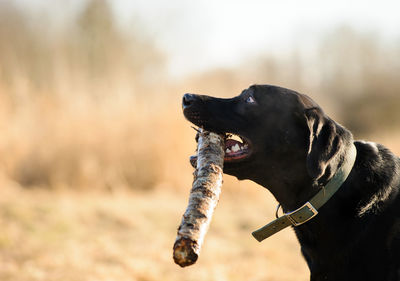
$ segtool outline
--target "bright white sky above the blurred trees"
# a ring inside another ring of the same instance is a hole
[[[5,1],[5,0],[0,0]],[[55,17],[83,0],[14,0]],[[109,0],[121,26],[140,29],[169,58],[171,74],[230,67],[255,54],[312,50],[337,26],[400,38],[400,2],[368,0]]]

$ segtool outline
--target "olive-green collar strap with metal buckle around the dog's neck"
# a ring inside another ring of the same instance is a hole
[[[343,165],[337,170],[324,188],[297,210],[285,213],[283,216],[254,231],[252,233],[254,238],[261,242],[290,225],[299,226],[315,217],[318,214],[318,209],[321,208],[346,181],[353,168],[356,156],[357,150],[354,144],[352,144]]]

